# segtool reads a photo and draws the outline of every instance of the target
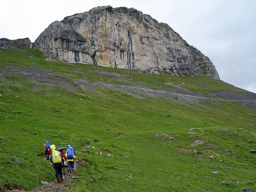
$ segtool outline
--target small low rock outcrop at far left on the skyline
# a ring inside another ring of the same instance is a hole
[[[6,38],[0,39],[0,49],[28,49],[32,48],[29,38],[9,40]]]

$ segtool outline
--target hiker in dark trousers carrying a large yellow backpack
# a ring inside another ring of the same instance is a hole
[[[56,150],[55,145],[51,145],[50,148],[52,151],[50,161],[52,163],[53,168],[55,169],[57,182],[61,183],[63,182],[62,163],[64,160],[61,156],[61,152]]]

